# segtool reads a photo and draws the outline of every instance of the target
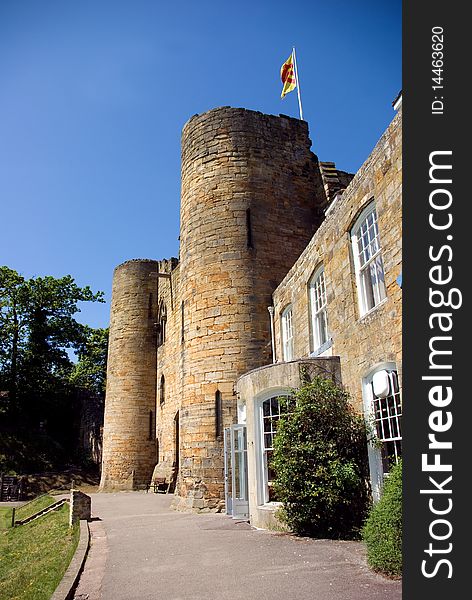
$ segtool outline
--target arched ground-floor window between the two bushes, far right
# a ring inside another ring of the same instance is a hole
[[[369,448],[372,491],[377,499],[383,479],[402,455],[402,406],[394,364],[377,368],[365,380],[366,418],[373,429]]]

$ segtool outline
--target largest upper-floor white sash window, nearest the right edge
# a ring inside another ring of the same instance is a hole
[[[351,240],[362,316],[387,296],[374,203],[371,203],[356,221],[352,228]]]

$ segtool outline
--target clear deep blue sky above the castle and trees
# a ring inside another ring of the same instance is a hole
[[[312,149],[355,172],[401,88],[398,0],[0,0],[0,264],[103,290],[79,319],[107,326],[114,267],[178,255],[183,125],[298,116],[293,45]]]

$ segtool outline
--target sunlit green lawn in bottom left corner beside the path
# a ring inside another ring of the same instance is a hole
[[[9,510],[1,509],[0,517],[11,515]],[[78,541],[79,527],[69,528],[67,505],[26,525],[0,530],[0,598],[49,600]]]

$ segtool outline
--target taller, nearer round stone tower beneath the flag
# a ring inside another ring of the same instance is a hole
[[[271,295],[305,249],[325,202],[308,126],[223,107],[182,133],[182,408],[177,493],[188,508],[224,498],[222,427],[233,384],[271,362]]]

